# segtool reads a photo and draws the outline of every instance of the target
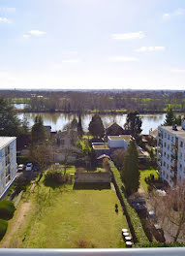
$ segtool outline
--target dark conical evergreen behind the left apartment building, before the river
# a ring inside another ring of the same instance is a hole
[[[34,144],[41,144],[46,141],[46,128],[43,125],[41,115],[35,117],[35,123],[31,130],[31,137]]]

